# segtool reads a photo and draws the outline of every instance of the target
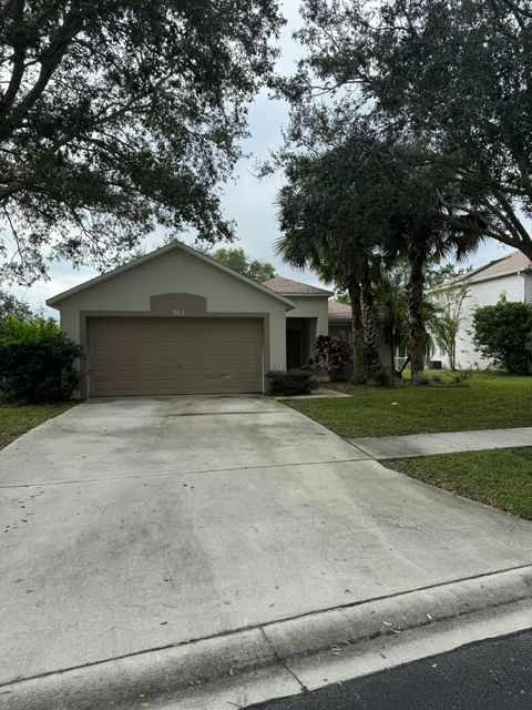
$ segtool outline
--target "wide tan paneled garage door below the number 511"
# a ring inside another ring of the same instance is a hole
[[[263,389],[257,318],[89,318],[88,339],[93,397]]]

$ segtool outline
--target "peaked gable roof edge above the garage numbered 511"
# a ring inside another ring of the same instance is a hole
[[[221,264],[216,260],[211,258],[211,256],[207,256],[206,254],[203,254],[203,252],[198,252],[196,248],[193,248],[192,246],[188,246],[187,244],[183,244],[183,242],[172,242],[172,244],[166,244],[165,246],[161,246],[160,248],[156,248],[153,252],[149,252],[147,254],[144,254],[143,256],[140,256],[139,258],[134,258],[131,262],[127,262],[127,264],[123,264],[122,266],[117,266],[116,268],[113,268],[111,271],[105,272],[104,274],[101,274],[100,276],[95,276],[94,278],[90,278],[89,281],[85,281],[82,284],[79,284],[78,286],[74,286],[73,288],[69,288],[68,291],[63,291],[62,293],[58,294],[57,296],[52,296],[51,298],[48,298],[47,305],[48,306],[53,306],[54,304],[57,304],[57,303],[59,303],[61,301],[64,301],[65,298],[69,298],[70,296],[74,295],[75,293],[79,293],[80,291],[84,291],[85,288],[91,288],[91,286],[95,286],[96,284],[99,284],[99,283],[101,283],[103,281],[106,281],[108,278],[112,278],[113,276],[116,276],[117,274],[122,274],[123,272],[129,271],[130,268],[135,268],[135,266],[140,266],[141,264],[144,264],[145,262],[149,262],[152,258],[155,258],[156,256],[161,256],[162,254],[165,254],[166,252],[171,252],[174,248],[180,248],[183,252],[186,252],[187,254],[191,254],[192,256],[196,256],[201,261],[209,264],[211,266],[219,268],[221,271],[225,272],[226,274],[229,274],[231,276],[234,276],[235,278],[238,278],[239,281],[243,281],[248,286],[253,286],[254,288],[257,288],[258,291],[262,291],[267,296],[272,296],[272,298],[277,298],[277,301],[282,301],[287,306],[287,311],[291,311],[293,308],[296,307],[296,304],[293,303],[291,301],[289,301],[289,298],[286,298],[283,294],[275,293],[274,291],[272,291],[270,288],[267,288],[263,284],[259,284],[258,282],[253,281],[252,278],[248,278],[247,276],[244,276],[243,274],[239,274],[238,272],[234,271],[233,268],[229,268],[228,266],[225,266],[225,264]]]

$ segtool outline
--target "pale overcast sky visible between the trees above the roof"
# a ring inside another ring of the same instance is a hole
[[[282,58],[277,69],[284,74],[290,74],[294,63],[300,54],[298,44],[291,38],[293,31],[299,24],[297,3],[294,1],[285,2],[284,14],[288,23],[279,40]],[[288,109],[284,102],[269,99],[266,91],[257,97],[249,110],[250,138],[243,144],[245,152],[250,153],[250,156],[239,161],[235,181],[224,189],[223,204],[226,215],[237,223],[238,246],[243,246],[255,258],[273,262],[283,276],[319,284],[319,280],[311,272],[293,271],[275,256],[274,243],[279,235],[275,199],[282,184],[280,175],[263,180],[254,176],[256,161],[266,159],[269,151],[279,145],[282,129],[287,116]],[[186,235],[183,235],[183,240],[191,242]],[[163,234],[154,234],[147,240],[145,246],[150,251],[162,245],[163,241]],[[492,258],[499,258],[510,251],[512,250],[490,241],[479,250],[470,263],[478,266]],[[14,288],[13,291],[29,301],[32,306],[40,306],[50,296],[71,288],[94,275],[96,272],[92,268],[74,271],[70,264],[60,263],[51,267],[49,281],[39,282],[30,288]]]

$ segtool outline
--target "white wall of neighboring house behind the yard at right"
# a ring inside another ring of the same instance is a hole
[[[490,366],[491,363],[484,359],[473,345],[473,313],[480,306],[494,305],[502,294],[505,294],[508,301],[532,303],[532,274],[513,273],[470,283],[457,338],[457,367],[459,369],[485,369]],[[432,359],[441,359],[443,367],[449,367],[448,358],[438,349]]]

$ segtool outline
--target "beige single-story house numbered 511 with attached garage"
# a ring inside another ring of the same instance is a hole
[[[47,304],[83,345],[81,397],[236,394],[306,363],[329,333],[331,295],[288,278],[259,284],[173,243]]]

